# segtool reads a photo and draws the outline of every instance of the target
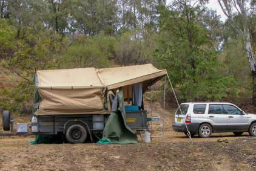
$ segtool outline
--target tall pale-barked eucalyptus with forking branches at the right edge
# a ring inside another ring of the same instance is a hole
[[[256,106],[256,63],[255,54],[252,48],[252,35],[250,33],[251,16],[255,16],[254,0],[218,0],[224,15],[227,16],[227,24],[240,38],[243,50],[246,51],[249,68],[252,74],[252,103]],[[254,18],[254,24],[255,24]],[[254,33],[256,30],[251,31]]]

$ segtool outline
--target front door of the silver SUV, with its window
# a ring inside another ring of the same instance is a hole
[[[223,105],[227,115],[227,129],[230,131],[246,131],[248,129],[248,117],[243,111],[233,105]]]

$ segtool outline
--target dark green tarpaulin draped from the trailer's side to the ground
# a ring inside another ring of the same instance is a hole
[[[136,134],[126,125],[126,111],[124,109],[123,91],[117,92],[118,109],[111,112],[103,131],[103,138],[98,144],[129,144],[138,143]]]

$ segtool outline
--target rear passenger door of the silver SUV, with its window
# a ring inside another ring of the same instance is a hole
[[[227,115],[223,112],[223,105],[209,104],[208,120],[216,132],[225,131],[227,126]]]

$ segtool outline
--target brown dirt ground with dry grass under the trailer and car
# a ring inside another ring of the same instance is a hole
[[[256,170],[256,138],[247,132],[238,137],[215,133],[211,138],[195,136],[191,143],[172,131],[174,112],[167,106],[164,140],[152,138],[147,144],[140,136],[139,144],[35,145],[29,145],[34,136],[0,136],[0,170]],[[161,105],[155,103],[152,115],[161,114]],[[30,117],[14,118],[15,123],[29,123]]]

